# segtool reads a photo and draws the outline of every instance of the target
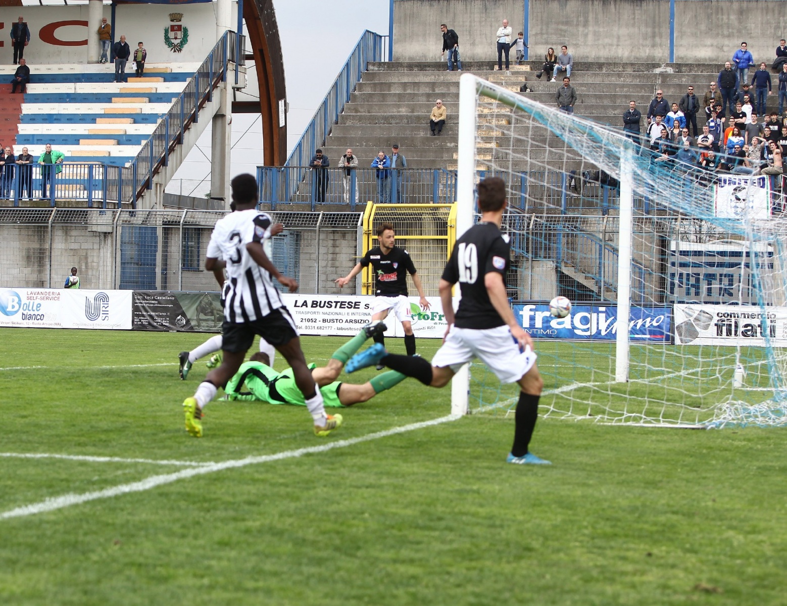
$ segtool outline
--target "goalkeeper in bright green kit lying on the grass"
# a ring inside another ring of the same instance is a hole
[[[378,332],[385,331],[386,325],[382,322],[370,324],[337,349],[326,366],[316,368],[316,364],[309,364],[312,377],[320,386],[326,408],[340,408],[368,401],[407,378],[401,372],[388,371],[375,376],[363,385],[336,380],[345,362],[364,345],[364,342]],[[244,384],[246,390],[242,390]],[[235,376],[227,382],[224,393],[227,400],[260,400],[271,404],[306,405],[301,390],[295,385],[292,368],[276,372],[268,365],[268,354],[264,352],[255,353],[248,362],[241,365]]]

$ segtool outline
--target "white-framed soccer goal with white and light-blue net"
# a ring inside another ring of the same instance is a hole
[[[460,84],[457,228],[475,185],[508,187],[508,294],[536,339],[541,412],[677,427],[787,424],[781,176],[698,168],[471,74]],[[719,154],[720,164],[732,162]],[[571,314],[549,314],[563,295]],[[455,412],[515,405],[482,364]]]

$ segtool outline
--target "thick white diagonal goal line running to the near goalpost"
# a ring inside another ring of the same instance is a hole
[[[431,427],[441,423],[448,423],[461,419],[461,415],[442,416],[439,419],[432,419],[430,421],[422,421],[421,423],[411,423],[409,425],[402,425],[401,427],[393,427],[383,431],[377,431],[374,434],[367,434],[359,438],[349,438],[347,440],[338,440],[337,442],[329,442],[319,446],[309,446],[297,450],[285,450],[281,453],[272,455],[261,456],[247,456],[245,459],[236,459],[223,461],[221,463],[212,463],[201,467],[190,467],[182,471],[176,471],[172,474],[152,475],[150,478],[143,479],[139,482],[131,482],[129,484],[120,484],[120,486],[113,486],[105,490],[95,490],[91,493],[82,494],[64,494],[61,497],[52,497],[38,503],[23,505],[16,509],[11,509],[7,512],[0,513],[0,520],[10,518],[21,518],[26,515],[35,515],[37,513],[52,512],[55,509],[62,509],[87,503],[88,501],[97,501],[98,499],[109,499],[112,497],[119,497],[121,494],[127,493],[140,493],[144,490],[150,490],[157,486],[164,484],[171,484],[178,480],[193,478],[195,475],[205,475],[213,473],[214,471],[224,471],[225,469],[232,469],[236,467],[246,467],[246,465],[254,465],[258,463],[269,463],[271,461],[293,459],[297,456],[305,454],[326,453],[328,450],[337,448],[345,448],[360,444],[361,442],[369,442],[379,438],[387,438],[390,435],[404,434],[407,431],[423,429],[423,427]]]

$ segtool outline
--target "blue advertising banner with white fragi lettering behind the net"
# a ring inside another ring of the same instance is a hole
[[[631,342],[671,341],[670,307],[632,307],[629,318]],[[565,318],[549,313],[549,305],[515,304],[514,315],[533,338],[575,341],[614,341],[618,331],[615,305],[574,305]]]

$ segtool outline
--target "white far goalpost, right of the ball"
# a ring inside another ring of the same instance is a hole
[[[618,231],[618,306],[615,331],[615,382],[629,380],[629,323],[631,315],[631,234],[634,226],[634,154],[626,146],[620,158],[620,215]]]

